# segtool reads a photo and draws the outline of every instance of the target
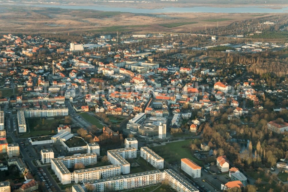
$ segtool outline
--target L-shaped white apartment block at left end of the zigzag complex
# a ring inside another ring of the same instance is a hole
[[[77,163],[82,163],[84,166],[87,166],[96,164],[96,162],[96,153],[88,153],[51,159],[51,168],[62,184],[68,184],[74,181],[74,178],[67,168],[72,168]]]

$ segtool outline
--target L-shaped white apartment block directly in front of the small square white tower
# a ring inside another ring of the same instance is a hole
[[[113,149],[107,151],[108,160],[111,164],[116,164],[121,166],[121,173],[130,173],[130,163],[126,159],[136,158],[135,147]]]

